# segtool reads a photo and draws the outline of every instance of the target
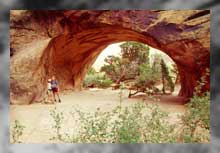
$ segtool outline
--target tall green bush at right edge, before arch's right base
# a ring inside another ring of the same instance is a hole
[[[205,85],[208,76],[209,70],[207,70],[207,73],[198,81],[194,96],[190,99],[190,102],[186,104],[187,110],[185,114],[181,116],[183,123],[181,136],[184,142],[209,141],[210,92],[201,94],[202,87]]]

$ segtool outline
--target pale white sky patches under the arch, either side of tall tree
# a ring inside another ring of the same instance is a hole
[[[101,54],[98,56],[98,58],[96,59],[95,63],[93,64],[93,68],[95,68],[96,71],[99,71],[100,68],[105,64],[104,59],[109,56],[109,55],[115,55],[115,56],[120,56],[120,52],[121,52],[121,48],[120,45],[123,42],[120,43],[114,43],[109,45],[108,47],[106,47]],[[158,49],[155,49],[153,47],[150,47],[150,52],[149,52],[149,57],[150,57],[150,62],[151,62],[151,56],[154,54],[160,54],[162,56],[162,58],[165,60],[166,64],[168,66],[171,66],[171,64],[173,64],[172,59],[166,55],[165,53],[161,52]]]

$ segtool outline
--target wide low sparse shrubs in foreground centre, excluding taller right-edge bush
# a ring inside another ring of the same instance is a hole
[[[59,114],[57,112],[56,114]],[[94,113],[86,113],[75,109],[73,120],[78,121],[80,130],[70,135],[54,138],[68,143],[169,143],[175,142],[170,125],[165,118],[167,114],[157,105],[149,106],[137,103],[129,107],[115,107],[112,111],[102,112],[100,108]],[[55,121],[56,122],[56,121]],[[59,122],[61,123],[61,122]],[[55,131],[61,126],[53,126]]]

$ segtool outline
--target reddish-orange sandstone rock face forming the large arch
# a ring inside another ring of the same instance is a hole
[[[180,73],[179,95],[191,97],[209,68],[210,11],[11,11],[11,103],[40,100],[51,75],[61,89],[81,90],[100,52],[122,41],[142,42],[169,55]]]

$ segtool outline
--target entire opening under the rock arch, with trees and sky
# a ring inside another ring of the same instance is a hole
[[[138,47],[140,48],[138,49]],[[146,52],[141,47],[146,47]],[[137,49],[137,52],[135,49]],[[149,66],[150,72],[146,70],[139,74],[141,66],[137,65],[137,61],[141,56],[138,55],[138,52],[139,54],[141,52],[147,53],[146,61],[142,61],[138,64]],[[133,58],[129,60],[128,56],[133,56]],[[169,94],[174,96],[179,94],[181,85],[175,62],[164,52],[146,44],[137,41],[113,43],[102,50],[94,59],[93,63],[88,67],[86,75],[83,77],[83,89],[118,89],[119,86],[123,84],[125,85],[125,89],[130,90],[130,92],[135,89],[135,94],[139,92],[147,93],[147,91],[144,90],[140,91],[139,89],[141,88],[138,89],[136,86],[139,81],[138,78],[143,77],[143,73],[148,73],[148,75],[152,75],[151,77],[155,77],[155,79],[149,80],[154,83],[152,85],[142,84],[142,88],[145,87],[150,90],[156,89],[157,92],[151,91],[152,94]],[[167,68],[167,77],[170,79],[169,82],[165,80],[164,84],[162,83],[162,61],[164,62],[163,66]],[[151,72],[154,74],[151,74]],[[146,77],[146,79],[150,79],[150,77]],[[146,83],[149,82],[147,80],[145,81]],[[130,94],[128,96],[130,97]]]

